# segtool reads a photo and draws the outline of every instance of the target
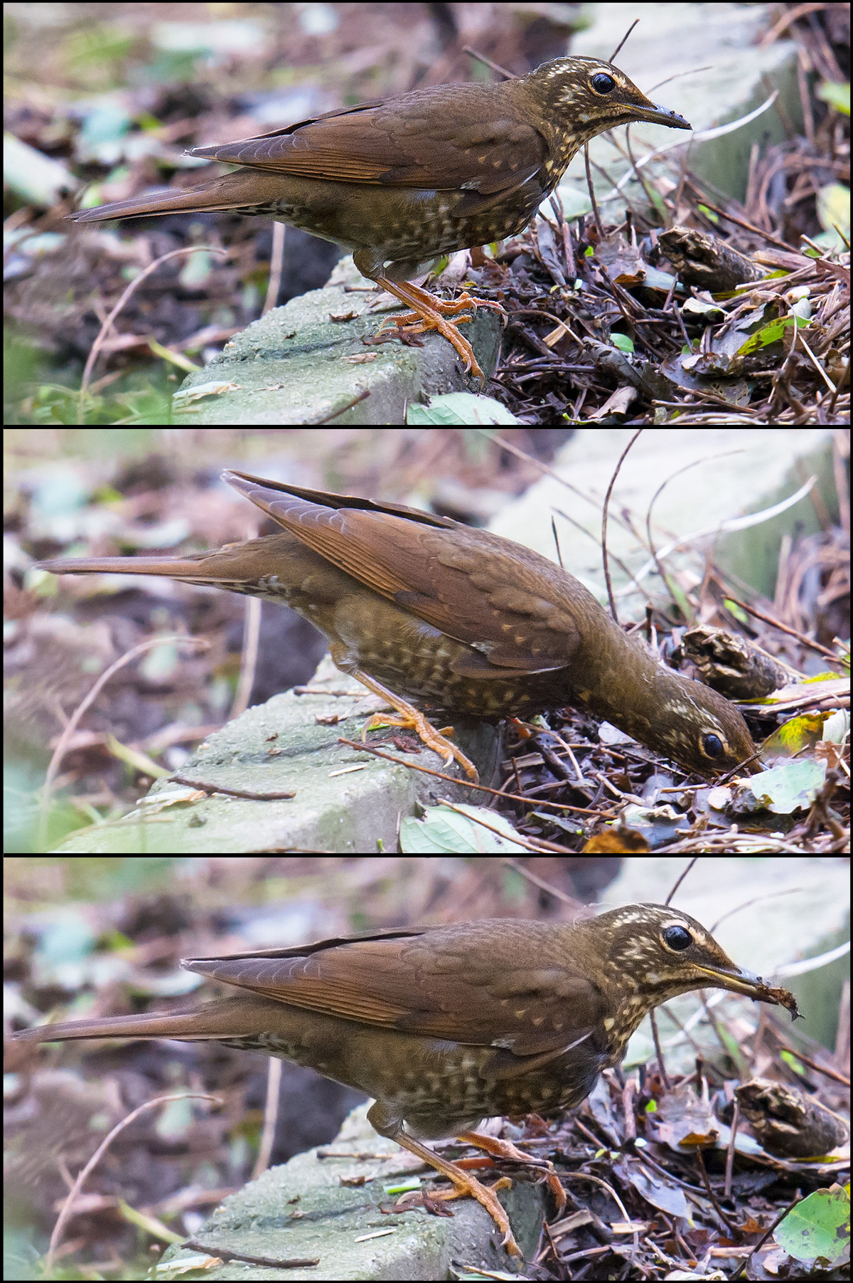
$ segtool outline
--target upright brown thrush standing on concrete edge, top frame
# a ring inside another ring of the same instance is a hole
[[[92,223],[179,210],[270,214],[350,250],[362,276],[412,309],[394,318],[398,326],[438,330],[482,378],[457,330],[470,319],[459,313],[478,300],[464,294],[442,303],[410,278],[419,263],[520,232],[584,142],[631,121],[690,128],[611,63],[557,58],[517,80],[432,85],[256,139],[193,148],[191,155],[242,168],[70,217]],[[502,312],[494,303],[479,305]]]

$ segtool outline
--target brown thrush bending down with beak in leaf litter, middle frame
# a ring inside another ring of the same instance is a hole
[[[284,532],[179,558],[40,565],[167,575],[292,606],[327,635],[338,668],[473,777],[419,708],[500,718],[576,704],[706,776],[754,754],[734,704],[657,663],[583,584],[529,548],[400,504],[223,477]]]

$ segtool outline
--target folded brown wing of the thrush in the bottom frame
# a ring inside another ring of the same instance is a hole
[[[603,1014],[601,993],[561,957],[553,933],[517,919],[183,965],[310,1011],[519,1056],[564,1048],[589,1034]]]

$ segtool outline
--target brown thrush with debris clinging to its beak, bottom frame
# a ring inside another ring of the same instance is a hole
[[[213,1041],[319,1069],[375,1097],[368,1117],[377,1132],[447,1177],[455,1189],[444,1197],[482,1202],[517,1255],[492,1189],[415,1137],[461,1135],[520,1157],[470,1128],[579,1105],[620,1062],[643,1016],[690,989],[729,989],[798,1015],[793,994],[738,967],[699,922],[665,905],[574,924],[401,928],[182,965],[246,992],[196,1011],[44,1025],[13,1038]]]

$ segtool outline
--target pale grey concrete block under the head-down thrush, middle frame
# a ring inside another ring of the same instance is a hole
[[[391,739],[377,744],[398,762],[341,744],[342,736],[359,742],[373,711],[386,706],[330,661],[323,661],[311,686],[316,694],[288,690],[225,722],[178,771],[206,788],[222,784],[248,795],[204,795],[164,779],[129,815],[85,829],[58,853],[388,852],[397,849],[402,816],[434,806],[439,798],[482,801],[482,794],[461,783],[461,769],[453,763],[448,771],[442,757],[415,743],[414,733],[406,733],[411,753]],[[497,730],[484,722],[469,727],[460,722],[455,729],[488,783],[501,747]],[[412,771],[406,762],[456,775],[460,783]],[[287,792],[293,795],[251,795]]]

